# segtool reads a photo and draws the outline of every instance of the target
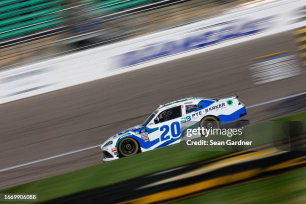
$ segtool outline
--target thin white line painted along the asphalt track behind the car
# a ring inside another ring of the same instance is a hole
[[[285,100],[285,99],[288,99],[288,98],[292,98],[292,97],[296,97],[296,96],[304,95],[304,94],[306,94],[306,91],[300,92],[300,93],[296,93],[296,94],[293,94],[293,95],[288,95],[288,96],[285,96],[285,97],[276,98],[276,99],[273,99],[273,100],[268,100],[268,101],[265,101],[265,102],[260,102],[260,103],[253,104],[253,105],[249,105],[249,106],[246,106],[245,108],[253,108],[253,107],[260,106],[260,105],[265,105],[265,104],[268,104],[268,103],[277,102],[277,101],[280,101],[280,100]],[[26,166],[26,165],[30,165],[30,164],[34,164],[34,163],[38,163],[38,162],[49,160],[49,159],[52,159],[52,158],[57,158],[57,157],[60,157],[60,156],[69,155],[69,154],[80,152],[80,151],[85,151],[85,150],[93,149],[93,148],[96,148],[96,147],[98,147],[100,145],[101,144],[97,144],[97,145],[93,145],[93,146],[88,146],[88,147],[85,147],[85,148],[80,148],[80,149],[76,149],[76,150],[73,150],[73,151],[69,151],[69,152],[65,152],[65,153],[60,153],[60,154],[56,154],[56,155],[53,155],[53,156],[48,156],[48,157],[41,158],[41,159],[38,159],[38,160],[29,161],[29,162],[26,162],[26,163],[21,163],[21,164],[14,165],[14,166],[11,166],[11,167],[2,168],[2,169],[0,169],[0,172],[11,170],[11,169],[22,167],[22,166]]]

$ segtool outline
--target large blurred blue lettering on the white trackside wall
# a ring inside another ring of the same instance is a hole
[[[276,15],[261,17],[257,19],[235,19],[205,26],[185,33],[185,37],[153,43],[140,47],[137,50],[118,55],[120,67],[131,66],[148,60],[167,55],[173,55],[192,49],[197,49],[225,40],[239,38],[264,31],[273,24]]]

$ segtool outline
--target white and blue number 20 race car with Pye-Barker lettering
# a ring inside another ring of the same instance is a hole
[[[143,124],[121,131],[100,147],[103,161],[130,156],[181,141],[187,128],[219,128],[246,114],[237,96],[191,97],[160,105]]]

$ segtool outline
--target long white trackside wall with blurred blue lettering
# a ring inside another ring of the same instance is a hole
[[[2,70],[0,104],[302,27],[306,24],[305,5],[304,0],[265,3]],[[296,67],[291,72],[295,73]]]

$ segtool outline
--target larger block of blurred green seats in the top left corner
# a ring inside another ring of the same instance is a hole
[[[63,22],[63,0],[0,0],[0,40],[52,28]]]

